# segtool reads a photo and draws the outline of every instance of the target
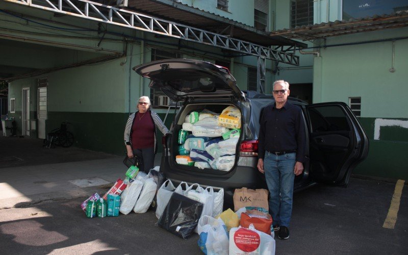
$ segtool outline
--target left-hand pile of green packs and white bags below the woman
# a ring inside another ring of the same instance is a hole
[[[88,218],[119,216],[145,213],[154,200],[158,186],[164,182],[164,175],[159,167],[151,169],[148,174],[139,172],[137,166],[131,166],[125,173],[126,178],[118,179],[102,197],[98,193],[86,199],[82,205]]]

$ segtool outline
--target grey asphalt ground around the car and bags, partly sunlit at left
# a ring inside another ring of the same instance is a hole
[[[196,234],[183,240],[166,232],[151,210],[86,218],[81,202],[123,179],[122,157],[41,143],[0,137],[1,254],[202,254]],[[87,178],[109,184],[69,182]],[[406,254],[406,185],[394,228],[382,227],[395,187],[353,177],[347,188],[317,185],[296,193],[290,238],[276,239],[276,254]]]

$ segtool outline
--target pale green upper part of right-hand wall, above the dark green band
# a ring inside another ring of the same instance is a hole
[[[327,45],[397,38],[408,28],[353,34],[327,39]],[[395,72],[392,67],[392,41],[372,42],[321,49],[321,66],[315,77],[321,89],[314,91],[314,101],[344,101],[362,97],[362,117],[407,118],[408,39],[395,41]],[[390,109],[392,109],[390,111]]]

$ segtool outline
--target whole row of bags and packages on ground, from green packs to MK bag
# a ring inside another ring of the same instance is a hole
[[[223,211],[223,189],[186,182],[175,187],[158,167],[146,174],[131,166],[125,174],[102,197],[95,193],[82,203],[87,217],[144,213],[156,196],[157,225],[183,239],[197,233],[205,254],[275,253],[267,190],[236,189],[234,211]]]

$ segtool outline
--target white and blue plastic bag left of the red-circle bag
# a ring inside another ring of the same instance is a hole
[[[198,246],[200,247],[201,251],[205,254],[228,254],[228,232],[226,231],[224,222],[221,219],[205,217],[209,216],[203,216],[198,221],[198,226],[201,230],[201,232],[199,232],[200,237],[198,239]],[[200,221],[201,224],[204,224],[205,221],[208,221],[208,224],[202,225],[200,227]]]

